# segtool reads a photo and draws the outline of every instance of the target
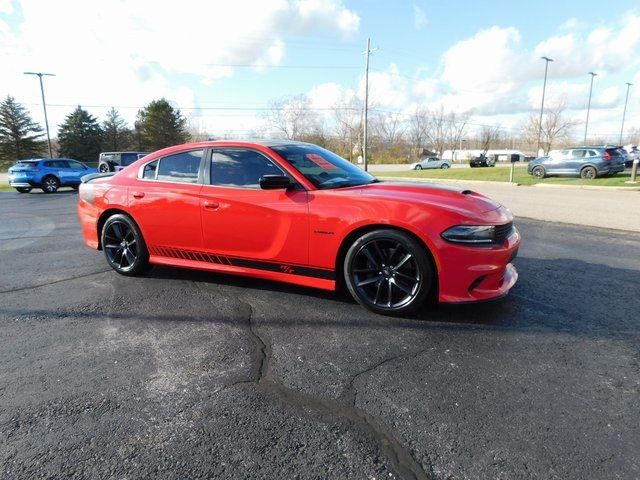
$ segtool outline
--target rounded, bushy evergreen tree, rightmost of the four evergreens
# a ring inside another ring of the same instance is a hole
[[[164,98],[154,100],[138,112],[136,131],[142,150],[158,150],[189,139],[187,120]]]

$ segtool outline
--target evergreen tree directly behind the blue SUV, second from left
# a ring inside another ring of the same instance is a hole
[[[58,130],[60,156],[96,162],[102,146],[102,129],[96,118],[78,106]]]

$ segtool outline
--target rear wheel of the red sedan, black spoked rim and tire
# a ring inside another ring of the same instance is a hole
[[[149,269],[149,251],[136,223],[127,215],[112,215],[102,227],[102,250],[111,268],[136,276]]]

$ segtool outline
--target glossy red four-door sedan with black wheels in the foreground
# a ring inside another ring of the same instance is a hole
[[[508,209],[470,190],[381,182],[316,145],[215,141],[80,185],[85,242],[118,273],[150,264],[334,290],[406,314],[488,300],[517,280]]]

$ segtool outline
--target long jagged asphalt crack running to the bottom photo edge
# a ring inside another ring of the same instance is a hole
[[[396,435],[389,428],[374,416],[358,408],[355,405],[355,401],[345,404],[339,401],[317,398],[308,393],[286,387],[281,382],[270,378],[270,364],[273,358],[271,342],[259,332],[254,319],[253,306],[240,298],[237,298],[237,300],[248,309],[247,323],[252,340],[256,345],[256,358],[251,375],[252,379],[250,381],[235,382],[227,388],[242,383],[255,383],[260,388],[276,394],[285,403],[294,407],[302,410],[313,410],[324,416],[344,418],[360,430],[368,433],[375,440],[380,451],[387,457],[391,466],[402,478],[408,480],[428,480],[433,478],[433,475],[427,475],[422,466],[413,458],[409,449],[397,440]],[[350,385],[352,383],[353,380]]]

